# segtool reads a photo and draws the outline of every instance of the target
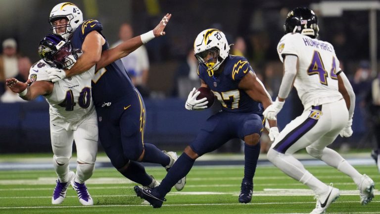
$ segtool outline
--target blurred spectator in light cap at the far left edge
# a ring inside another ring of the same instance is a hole
[[[17,43],[13,38],[9,38],[2,42],[2,54],[0,55],[0,95],[4,93],[5,79],[15,77],[17,74]]]

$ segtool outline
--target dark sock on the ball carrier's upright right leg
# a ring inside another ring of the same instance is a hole
[[[243,181],[252,183],[255,175],[257,159],[260,155],[260,142],[255,146],[244,143],[244,178]]]

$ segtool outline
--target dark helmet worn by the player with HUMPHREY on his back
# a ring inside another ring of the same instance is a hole
[[[316,38],[319,32],[317,15],[307,7],[297,7],[287,14],[284,31],[285,34],[300,33]]]

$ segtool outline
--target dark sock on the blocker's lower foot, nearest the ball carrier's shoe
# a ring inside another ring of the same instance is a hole
[[[120,171],[120,173],[142,186],[148,186],[152,183],[152,178],[146,173],[144,166],[136,161],[131,160],[128,168],[124,171]]]

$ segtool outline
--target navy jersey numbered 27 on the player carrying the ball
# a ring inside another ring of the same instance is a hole
[[[229,55],[224,61],[224,69],[218,77],[209,76],[206,66],[198,67],[198,75],[222,104],[222,109],[228,112],[252,112],[262,114],[263,107],[250,98],[244,90],[238,88],[240,80],[253,71],[249,62],[243,56]]]

